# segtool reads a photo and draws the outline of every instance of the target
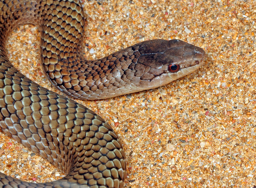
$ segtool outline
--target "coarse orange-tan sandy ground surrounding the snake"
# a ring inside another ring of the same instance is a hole
[[[127,188],[255,187],[256,1],[85,1],[85,54],[104,57],[140,41],[180,39],[203,48],[205,64],[165,86],[82,101],[123,142]],[[39,59],[39,31],[21,26],[7,43],[13,65],[57,91]],[[0,169],[47,182],[64,174],[0,132]]]

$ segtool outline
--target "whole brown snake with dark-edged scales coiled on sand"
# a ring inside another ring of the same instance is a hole
[[[41,64],[50,82],[79,99],[112,98],[166,85],[196,71],[204,62],[204,50],[180,40],[155,39],[87,60],[79,0],[0,1],[0,129],[66,175],[36,184],[0,173],[0,187],[122,188],[126,159],[114,130],[90,109],[39,86],[10,63],[8,36],[23,24],[39,28]]]

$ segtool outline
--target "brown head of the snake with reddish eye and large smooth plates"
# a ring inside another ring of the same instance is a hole
[[[194,72],[204,62],[204,50],[180,40],[151,40],[137,44],[138,59],[131,82],[153,89]],[[135,50],[135,49],[134,49]],[[137,49],[136,49],[137,50]]]

